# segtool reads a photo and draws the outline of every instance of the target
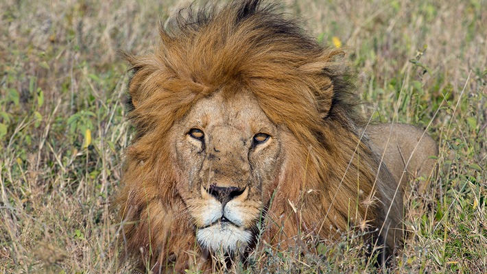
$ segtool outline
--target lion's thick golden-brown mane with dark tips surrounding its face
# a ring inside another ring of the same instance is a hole
[[[189,8],[159,30],[153,53],[125,54],[134,70],[136,136],[126,150],[117,205],[128,254],[160,270],[211,264],[175,188],[167,144],[169,129],[224,83],[250,90],[268,118],[297,140],[287,146],[287,170],[266,205],[261,238],[286,247],[303,230],[333,237],[355,225],[377,229],[388,249],[401,240],[383,232],[398,225],[402,197],[386,189],[390,174],[363,138],[342,50],[322,47],[259,0]]]

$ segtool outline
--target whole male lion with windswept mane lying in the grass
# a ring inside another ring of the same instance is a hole
[[[189,9],[160,32],[154,53],[125,55],[136,136],[117,204],[128,254],[154,272],[211,270],[259,242],[286,249],[347,227],[370,232],[382,260],[393,254],[399,181],[431,173],[436,145],[409,125],[365,127],[340,49],[259,0]]]

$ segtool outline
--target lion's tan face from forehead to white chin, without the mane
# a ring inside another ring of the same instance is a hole
[[[278,181],[285,132],[250,92],[200,99],[171,130],[176,188],[198,242],[211,251],[246,247]]]

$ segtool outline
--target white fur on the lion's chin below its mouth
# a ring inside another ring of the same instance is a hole
[[[247,230],[230,223],[217,223],[198,229],[196,239],[204,248],[214,252],[235,252],[245,248],[252,238]]]

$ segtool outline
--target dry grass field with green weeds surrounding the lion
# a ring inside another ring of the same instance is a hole
[[[119,189],[128,62],[190,1],[0,1],[0,273],[132,273],[110,208]],[[487,1],[283,1],[356,72],[375,122],[440,147],[405,199],[394,273],[487,273]],[[263,245],[238,273],[377,272],[354,234],[289,256]],[[189,271],[192,273],[191,271]]]

